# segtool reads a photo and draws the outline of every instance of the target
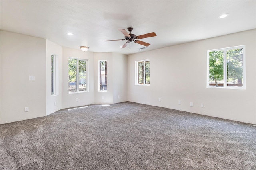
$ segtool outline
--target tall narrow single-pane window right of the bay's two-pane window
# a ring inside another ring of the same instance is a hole
[[[107,72],[107,61],[100,60],[99,61],[99,91],[107,91],[108,90],[108,72]]]

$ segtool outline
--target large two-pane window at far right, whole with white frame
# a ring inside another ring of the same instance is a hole
[[[245,89],[245,45],[208,50],[208,88]]]

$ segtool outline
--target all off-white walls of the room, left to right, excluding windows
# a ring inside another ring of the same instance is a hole
[[[256,29],[128,57],[83,52],[6,31],[0,31],[0,37],[0,124],[62,108],[127,100],[256,124]],[[246,45],[246,90],[206,88],[206,51],[237,45]],[[58,96],[50,95],[51,54],[59,58]],[[68,94],[69,57],[88,59],[89,92]],[[136,86],[134,63],[144,59],[150,59],[150,86]],[[98,92],[98,60],[108,61],[108,92]],[[28,80],[29,75],[35,80]]]

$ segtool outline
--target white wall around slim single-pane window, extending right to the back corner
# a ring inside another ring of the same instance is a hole
[[[99,60],[106,60],[108,63],[107,91],[98,90]],[[119,53],[94,53],[94,82],[96,104],[112,104],[127,101],[127,55]]]

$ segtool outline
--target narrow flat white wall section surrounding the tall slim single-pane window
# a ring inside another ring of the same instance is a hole
[[[99,60],[107,61],[107,81],[108,90],[99,91]],[[112,53],[94,53],[94,102],[96,104],[113,103],[113,58]]]

